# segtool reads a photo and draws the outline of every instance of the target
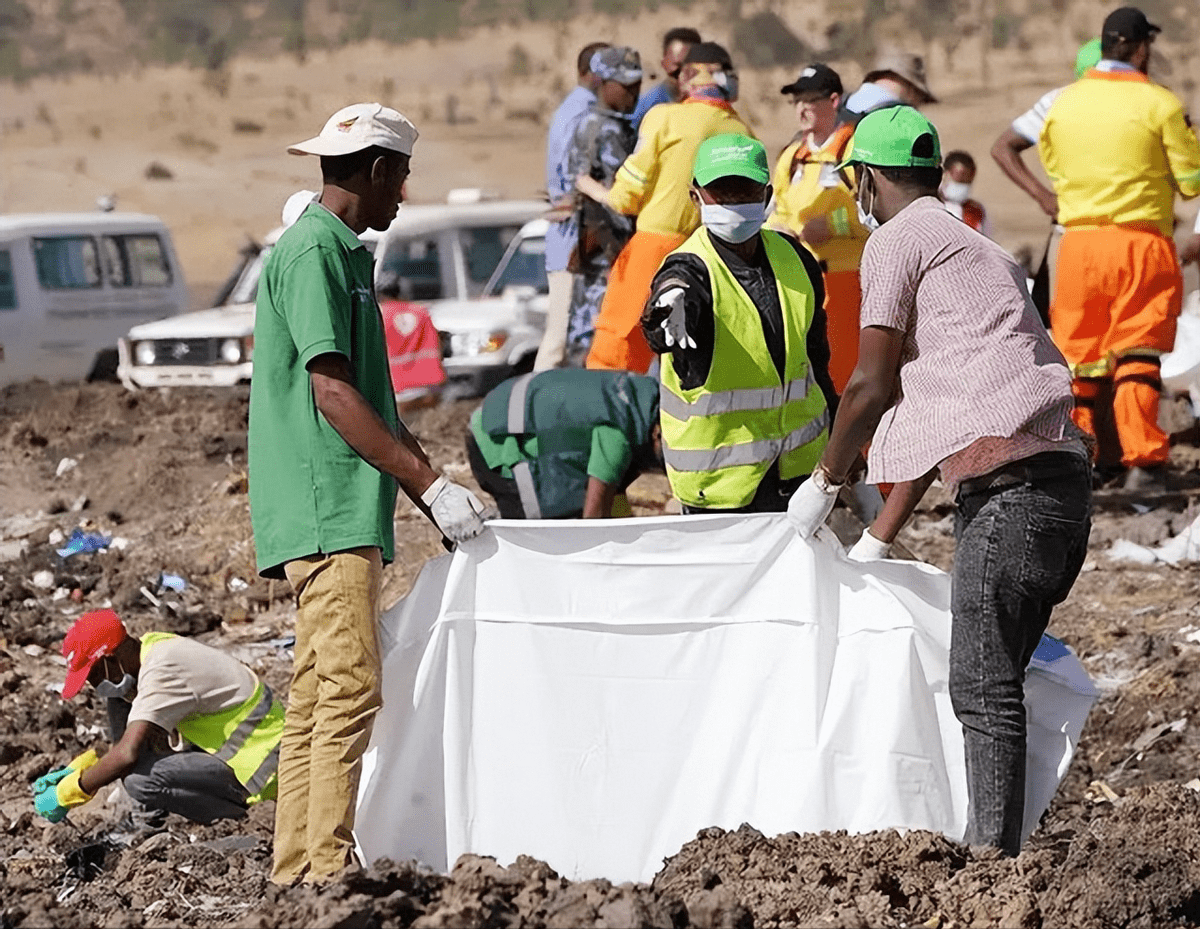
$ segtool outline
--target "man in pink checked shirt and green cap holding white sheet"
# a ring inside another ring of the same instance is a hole
[[[851,557],[884,557],[935,478],[956,491],[949,689],[966,750],[965,840],[1016,855],[1025,667],[1091,526],[1070,373],[1016,262],[937,199],[929,120],[910,107],[869,114],[847,163],[859,206],[881,224],[863,254],[858,366],[788,516],[811,535],[868,442],[868,479],[896,486]]]

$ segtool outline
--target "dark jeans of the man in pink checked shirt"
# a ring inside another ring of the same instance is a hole
[[[966,749],[972,845],[1009,855],[1025,815],[1025,669],[1079,576],[1091,531],[1082,458],[958,498],[950,610],[950,702]],[[1033,461],[1026,460],[1027,462]]]

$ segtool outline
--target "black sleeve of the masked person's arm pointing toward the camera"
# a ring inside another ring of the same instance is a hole
[[[659,306],[658,300],[673,287],[684,290],[688,335],[696,342],[695,348],[686,350],[678,346],[668,348],[661,329],[662,320],[671,311],[667,306]],[[713,366],[716,326],[713,320],[713,287],[708,278],[708,269],[697,256],[667,256],[654,275],[650,296],[642,310],[642,334],[653,352],[660,355],[671,354],[679,384],[684,390],[698,388],[708,380],[708,371]]]

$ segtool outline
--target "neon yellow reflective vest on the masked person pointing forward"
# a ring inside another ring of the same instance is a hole
[[[776,460],[784,479],[811,474],[829,440],[829,413],[806,344],[812,282],[782,236],[763,230],[762,244],[784,311],[782,383],[758,311],[708,230],[701,227],[676,250],[708,268],[715,322],[713,364],[701,386],[684,390],[672,355],[662,355],[662,452],[671,490],[690,507],[745,507]]]

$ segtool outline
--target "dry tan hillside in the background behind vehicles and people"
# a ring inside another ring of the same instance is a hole
[[[0,2],[0,19],[12,2]],[[112,16],[124,14],[115,0],[103,2]],[[101,4],[77,0],[76,7],[100,11]],[[769,12],[767,6],[743,2],[739,12],[745,19]],[[836,38],[827,35],[841,22],[833,7],[773,6],[794,34],[817,36],[814,44]],[[942,97],[930,115],[947,148],[967,148],[980,157],[978,191],[1009,247],[1038,242],[1045,223],[991,166],[986,149],[1014,115],[1068,77],[1075,43],[1102,16],[1091,0],[1063,6],[1051,20],[1033,4],[1002,48],[992,47],[996,37],[982,28],[926,41],[904,5],[875,26],[888,41],[929,47],[930,80]],[[546,121],[574,79],[578,47],[593,38],[629,43],[653,67],[658,37],[671,25],[691,22],[730,42],[737,22],[728,8],[716,0],[688,8],[664,4],[636,17],[505,20],[454,40],[314,49],[302,61],[290,53],[242,55],[216,70],[136,66],[122,73],[0,83],[0,211],[86,210],[96,197],[115,193],[121,209],[164,217],[193,302],[200,304],[246,236],[268,232],[284,198],[313,185],[316,164],[287,156],[284,148],[316,132],[338,107],[382,100],[412,115],[422,132],[409,184],[416,200],[437,200],[462,186],[530,196],[545,185]],[[104,17],[96,17],[95,23],[80,19],[72,41],[107,36]],[[980,17],[978,22],[990,22]],[[847,84],[863,73],[854,60],[835,64]],[[1180,92],[1190,92],[1187,68],[1194,64],[1183,52],[1175,55],[1171,79]],[[745,70],[743,76],[739,109],[773,151],[792,134],[791,108],[779,88],[793,77],[791,66]],[[170,178],[148,179],[151,163]]]

